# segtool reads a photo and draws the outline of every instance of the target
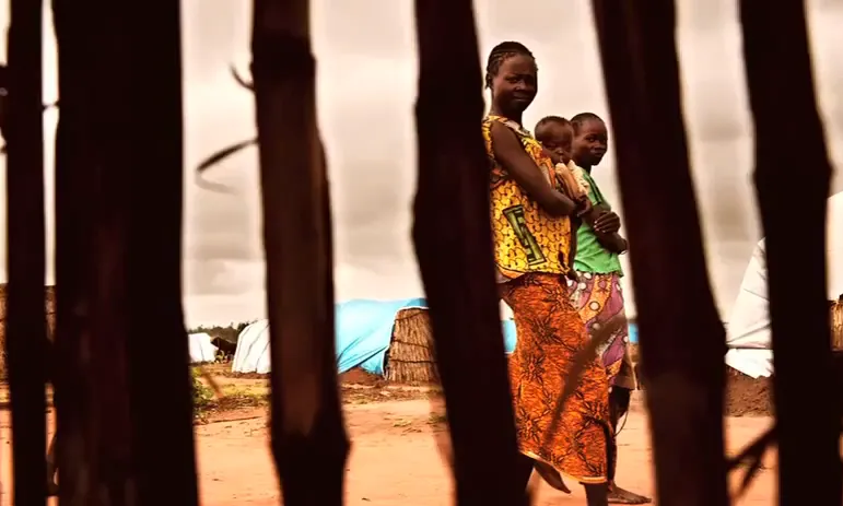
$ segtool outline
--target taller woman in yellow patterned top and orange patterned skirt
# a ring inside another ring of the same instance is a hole
[[[557,187],[548,153],[522,126],[537,93],[532,54],[502,43],[489,55],[485,85],[492,107],[483,120],[491,161],[490,195],[500,291],[512,308],[518,342],[510,358],[519,480],[526,489],[536,463],[585,485],[589,506],[607,505],[613,451],[606,372],[595,356],[554,422],[575,357],[588,343],[571,305],[571,216],[577,204]]]

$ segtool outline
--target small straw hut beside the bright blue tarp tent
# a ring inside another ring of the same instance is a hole
[[[395,383],[438,383],[426,309],[407,308],[396,315],[384,374]]]

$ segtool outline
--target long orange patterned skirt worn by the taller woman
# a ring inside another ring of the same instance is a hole
[[[612,469],[609,384],[598,356],[585,367],[555,423],[555,408],[576,354],[588,342],[559,274],[528,273],[501,285],[518,342],[510,357],[522,454],[581,483],[604,483]]]

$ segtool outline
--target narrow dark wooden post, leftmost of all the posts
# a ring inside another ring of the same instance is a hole
[[[7,136],[5,346],[12,400],[14,504],[46,504],[45,216],[39,1],[12,0]]]

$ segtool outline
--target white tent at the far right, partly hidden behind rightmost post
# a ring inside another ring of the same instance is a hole
[[[828,203],[828,298],[843,294],[843,192]],[[726,327],[726,364],[753,378],[773,373],[764,239],[752,252]],[[740,348],[735,349],[735,348]],[[749,349],[748,349],[749,348]]]

